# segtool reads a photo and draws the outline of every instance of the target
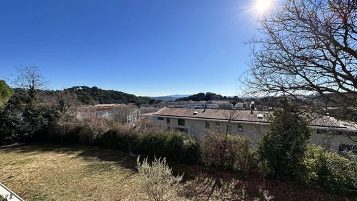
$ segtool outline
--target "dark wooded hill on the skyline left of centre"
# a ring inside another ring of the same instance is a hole
[[[65,89],[76,93],[83,104],[154,104],[154,99],[124,93],[122,91],[104,90],[95,86],[73,86]]]

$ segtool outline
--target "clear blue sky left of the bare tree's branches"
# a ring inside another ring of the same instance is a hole
[[[2,0],[0,78],[39,66],[49,88],[240,93],[253,1]]]

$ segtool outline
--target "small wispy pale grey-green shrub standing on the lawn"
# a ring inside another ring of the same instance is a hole
[[[173,176],[172,169],[166,163],[165,158],[154,158],[151,165],[148,158],[142,163],[137,158],[137,169],[140,175],[140,184],[148,196],[155,201],[172,200],[176,196],[176,186],[183,176]]]

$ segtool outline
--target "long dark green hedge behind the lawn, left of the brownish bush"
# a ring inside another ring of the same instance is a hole
[[[187,134],[152,130],[143,133],[133,128],[113,126],[106,121],[58,123],[48,137],[52,142],[100,145],[152,158],[165,157],[181,164],[199,163],[201,155],[198,141]]]

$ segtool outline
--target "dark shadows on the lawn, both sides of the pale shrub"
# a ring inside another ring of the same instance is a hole
[[[43,154],[56,152],[80,157],[86,161],[108,161],[126,169],[136,169],[136,157],[119,150],[87,145],[15,144],[0,147],[0,152]],[[106,171],[111,165],[89,168]],[[174,174],[183,174],[179,195],[189,200],[348,200],[331,196],[316,189],[299,189],[296,185],[260,176],[240,177],[233,172],[222,172],[198,165],[173,165]],[[128,177],[130,177],[129,175]],[[124,178],[125,179],[125,178]],[[349,199],[355,200],[355,199]]]

